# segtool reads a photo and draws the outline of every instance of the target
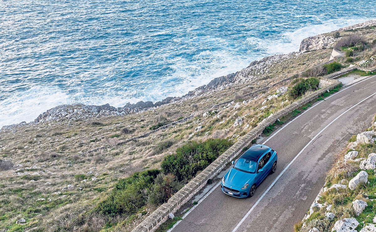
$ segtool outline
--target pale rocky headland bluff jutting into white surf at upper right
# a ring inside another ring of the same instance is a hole
[[[306,50],[320,50],[332,47],[334,42],[337,41],[333,36],[316,35],[303,39],[300,43],[299,52]]]

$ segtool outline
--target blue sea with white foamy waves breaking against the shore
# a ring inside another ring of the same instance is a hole
[[[0,127],[181,96],[372,18],[374,0],[0,0]]]

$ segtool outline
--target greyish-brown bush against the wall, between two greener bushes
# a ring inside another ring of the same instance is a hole
[[[165,175],[164,173],[159,173],[150,190],[148,203],[154,206],[162,205],[174,193],[179,191],[181,187],[182,185],[176,180],[173,174],[169,173]]]

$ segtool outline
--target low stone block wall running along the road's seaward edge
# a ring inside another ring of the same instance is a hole
[[[312,92],[306,97],[292,103],[284,109],[276,112],[273,116],[266,118],[264,121],[258,124],[250,132],[244,135],[240,140],[238,140],[232,147],[230,147],[226,152],[220,155],[214,162],[212,162],[205,170],[194,177],[190,182],[188,182],[182,189],[175,193],[167,203],[159,206],[152,214],[150,214],[144,221],[142,221],[132,232],[149,232],[156,230],[162,223],[164,223],[169,213],[176,212],[182,205],[188,202],[196,193],[198,193],[207,183],[209,179],[215,177],[229,162],[231,162],[235,157],[237,157],[240,152],[261,135],[265,127],[273,124],[277,119],[284,117],[285,115],[293,112],[300,106],[305,105],[308,102],[319,97],[324,92],[329,89],[333,89],[338,86],[341,82],[337,80],[329,80],[326,78],[321,78],[320,82],[324,86],[323,88]],[[331,83],[331,84],[327,84]]]

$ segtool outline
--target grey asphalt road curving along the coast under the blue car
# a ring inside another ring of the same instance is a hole
[[[272,134],[273,137],[265,143],[277,150],[278,166],[276,173],[270,174],[259,185],[253,197],[237,199],[227,196],[219,186],[172,231],[231,232],[235,228],[239,232],[293,231],[294,224],[302,220],[324,185],[326,173],[334,163],[335,150],[352,135],[347,127],[352,126],[353,120],[371,121],[376,114],[376,95],[364,100],[375,92],[376,76],[373,76],[330,96],[326,101],[315,103],[313,108],[276,135]],[[321,130],[320,135],[293,161]],[[291,161],[290,167],[261,197]],[[253,211],[245,217],[258,200]]]

